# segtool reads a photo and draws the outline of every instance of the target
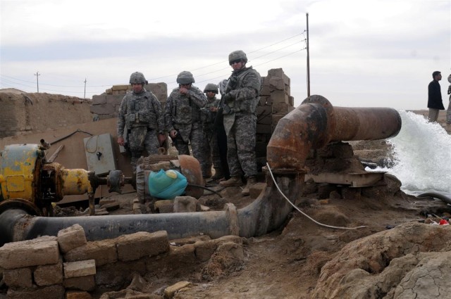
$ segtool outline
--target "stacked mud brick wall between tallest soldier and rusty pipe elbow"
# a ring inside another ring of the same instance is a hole
[[[259,167],[266,164],[266,146],[278,121],[295,109],[295,98],[290,96],[290,78],[281,68],[268,70],[262,77],[260,102],[257,106],[257,163]]]

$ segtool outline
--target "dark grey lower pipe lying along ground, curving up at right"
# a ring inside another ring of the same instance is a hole
[[[278,186],[284,193],[297,196],[304,176],[285,174],[277,177]],[[137,231],[167,231],[168,238],[184,238],[205,234],[219,238],[235,234],[250,237],[261,236],[278,229],[292,210],[281,198],[272,182],[250,205],[235,210],[228,205],[224,211],[180,212],[167,214],[106,215],[95,217],[31,217],[25,210],[14,208],[0,215],[0,245],[23,241],[38,236],[56,236],[58,231],[80,224],[88,241],[116,238]]]

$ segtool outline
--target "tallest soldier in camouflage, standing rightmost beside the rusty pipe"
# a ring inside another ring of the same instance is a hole
[[[247,56],[243,51],[233,51],[228,56],[232,75],[228,78],[223,101],[224,128],[227,134],[227,160],[230,179],[221,186],[242,186],[241,171],[247,184],[242,195],[249,195],[249,188],[257,183],[255,156],[257,104],[261,89],[261,77],[257,70],[247,68]]]

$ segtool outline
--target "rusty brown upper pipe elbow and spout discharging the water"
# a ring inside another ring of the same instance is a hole
[[[396,136],[401,117],[393,108],[333,108],[323,96],[310,96],[279,120],[266,150],[273,169],[303,172],[311,149],[330,141],[377,140]]]

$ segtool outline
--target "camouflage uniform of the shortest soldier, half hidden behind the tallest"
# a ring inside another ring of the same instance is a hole
[[[213,162],[217,173],[223,173],[221,163],[221,153],[218,146],[218,131],[215,127],[216,112],[212,112],[210,108],[219,106],[219,99],[207,98],[208,103],[201,109],[202,129],[204,131],[203,155],[206,157],[206,167],[211,169]]]

